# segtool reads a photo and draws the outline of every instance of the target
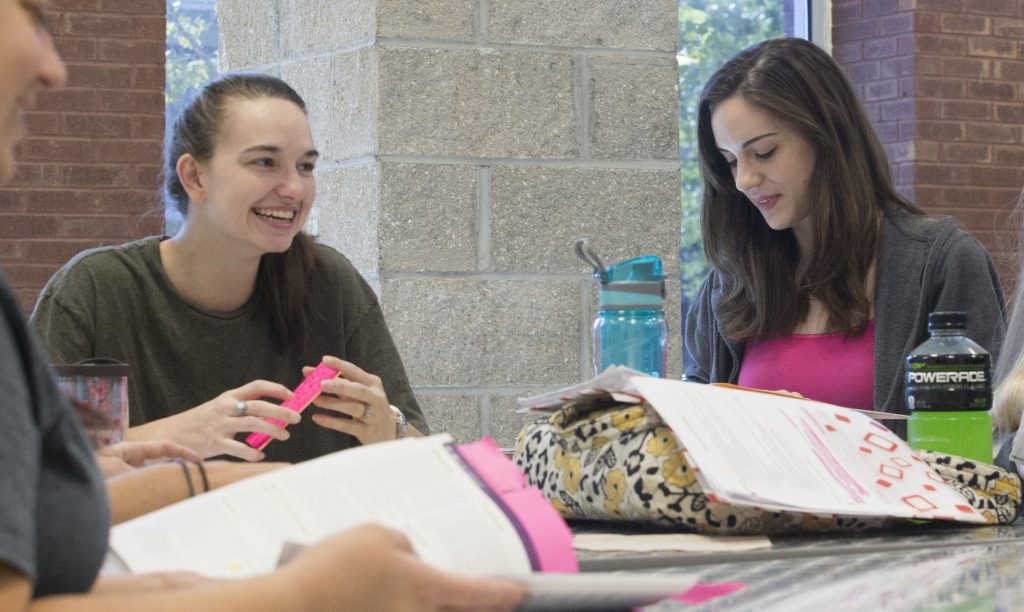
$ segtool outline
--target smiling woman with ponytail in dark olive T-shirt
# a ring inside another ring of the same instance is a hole
[[[287,83],[222,76],[167,136],[164,194],[180,231],[86,251],[47,283],[32,325],[53,361],[131,365],[129,440],[297,462],[427,432],[373,290],[303,231],[318,158]],[[300,422],[268,401],[322,359],[341,377],[321,410]],[[236,439],[247,432],[278,441],[264,454]]]

